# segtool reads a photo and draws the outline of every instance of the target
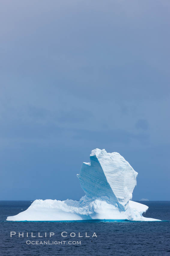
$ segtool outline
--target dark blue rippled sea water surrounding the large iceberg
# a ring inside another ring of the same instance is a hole
[[[141,203],[149,206],[145,217],[163,221],[9,222],[5,221],[7,216],[25,211],[31,201],[0,201],[0,255],[170,255],[170,201]],[[10,237],[10,231],[16,235]],[[64,233],[67,237],[61,236],[63,231],[67,232]],[[24,237],[18,237],[18,232],[24,232]],[[31,232],[35,238],[31,238]],[[38,232],[42,238],[38,238]],[[54,233],[51,238],[49,232]],[[79,232],[83,237],[78,237]],[[94,232],[97,237],[92,237]],[[76,236],[70,237],[70,233]],[[85,237],[85,233],[90,237]],[[26,241],[45,241],[45,244],[26,244]],[[52,244],[55,241],[57,244]]]

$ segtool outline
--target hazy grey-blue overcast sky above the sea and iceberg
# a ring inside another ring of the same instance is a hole
[[[170,2],[1,0],[0,200],[85,193],[94,148],[170,200]]]

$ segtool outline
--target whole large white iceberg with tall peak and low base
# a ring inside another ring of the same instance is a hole
[[[117,152],[105,149],[91,151],[90,162],[83,162],[77,174],[85,192],[79,201],[67,199],[32,202],[26,211],[7,217],[9,221],[66,220],[136,220],[155,221],[143,217],[148,206],[131,201],[138,173]]]

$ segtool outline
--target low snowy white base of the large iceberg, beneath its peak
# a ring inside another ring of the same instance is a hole
[[[82,197],[80,201],[73,200],[35,200],[30,207],[15,216],[7,217],[9,221],[65,221],[65,220],[136,220],[156,221],[145,218],[142,213],[148,206],[129,200],[125,211],[113,204],[100,199]],[[158,220],[159,221],[159,220]]]

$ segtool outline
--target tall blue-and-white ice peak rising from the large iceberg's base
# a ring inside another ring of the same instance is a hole
[[[96,148],[77,176],[88,198],[100,198],[124,211],[132,199],[137,174],[119,153]]]

